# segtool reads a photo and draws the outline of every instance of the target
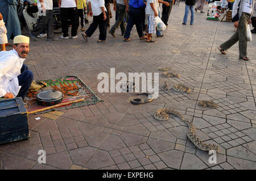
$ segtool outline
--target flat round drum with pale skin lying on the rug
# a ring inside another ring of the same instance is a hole
[[[45,90],[36,94],[36,100],[38,104],[43,106],[53,106],[61,103],[63,99],[63,93],[58,90]]]

